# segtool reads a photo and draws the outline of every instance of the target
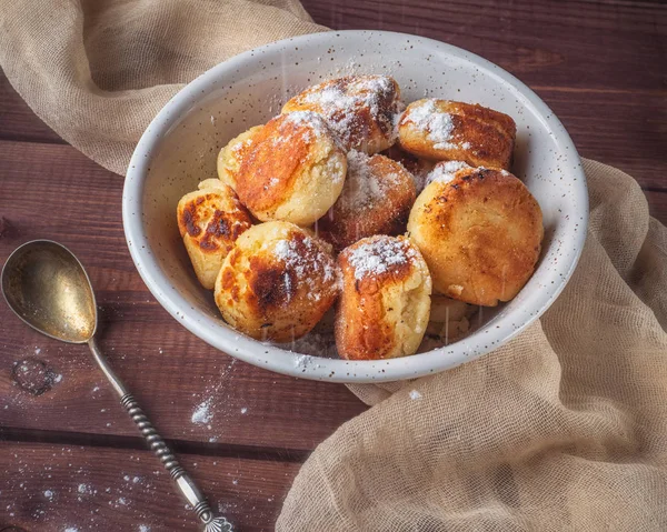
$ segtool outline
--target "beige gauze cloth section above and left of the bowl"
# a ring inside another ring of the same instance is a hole
[[[60,137],[125,174],[186,83],[242,51],[323,30],[298,0],[0,0],[0,64]]]

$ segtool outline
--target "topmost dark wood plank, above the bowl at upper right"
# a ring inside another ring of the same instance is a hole
[[[401,31],[478,53],[528,84],[664,89],[667,7],[566,0],[306,0],[330,28]]]

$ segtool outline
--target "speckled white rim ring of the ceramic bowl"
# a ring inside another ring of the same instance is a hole
[[[197,309],[191,309],[190,303],[172,287],[168,275],[155,259],[151,252],[151,243],[148,241],[143,230],[141,202],[145,179],[153,148],[170,128],[179,122],[183,113],[192,107],[193,100],[201,100],[211,90],[218,89],[219,86],[215,83],[216,80],[227,76],[233,78],[235,69],[257,61],[259,57],[258,51],[263,52],[262,57],[266,60],[268,54],[280,53],[280,50],[283,50],[288,46],[298,46],[305,49],[311,43],[334,44],[341,40],[368,38],[369,36],[374,39],[390,39],[394,42],[399,39],[409,39],[411,43],[418,42],[425,48],[432,49],[434,53],[451,54],[470,61],[480,69],[485,69],[490,76],[504,80],[516,90],[518,98],[527,100],[541,114],[541,120],[563,152],[567,150],[568,158],[571,158],[573,162],[578,160],[576,148],[563,123],[547,104],[521,81],[479,56],[440,41],[407,33],[349,30],[295,37],[236,56],[195,79],[180,90],[158,113],[141,137],[132,154],[122,194],[122,221],[126,239],[132,260],[143,282],[160,304],[179,323],[213,348],[231,357],[278,373],[334,382],[371,383],[414,379],[437,373],[477,359],[516,337],[551,305],[571,277],[584,249],[588,223],[588,191],[584,170],[579,163],[570,171],[578,173],[575,177],[579,178],[576,179],[576,183],[573,187],[576,188],[574,193],[583,207],[581,212],[578,213],[581,217],[581,221],[579,230],[568,234],[573,239],[571,242],[568,242],[574,247],[573,259],[569,263],[559,263],[554,271],[552,278],[559,277],[560,279],[558,283],[550,288],[548,293],[531,294],[532,299],[529,298],[530,300],[527,301],[527,303],[531,304],[522,305],[519,309],[515,309],[514,312],[495,320],[494,327],[485,324],[470,337],[448,347],[412,357],[380,361],[347,361],[302,355],[258,342],[225,325],[219,328],[211,327],[210,317]],[[542,292],[547,292],[547,290]],[[207,323],[207,321],[209,322]],[[223,323],[221,319],[220,323]]]

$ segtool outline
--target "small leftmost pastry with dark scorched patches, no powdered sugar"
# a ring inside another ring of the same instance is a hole
[[[181,198],[177,221],[199,282],[212,290],[222,260],[252,225],[250,214],[230,187],[210,179]]]

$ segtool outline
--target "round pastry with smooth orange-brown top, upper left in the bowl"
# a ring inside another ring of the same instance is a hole
[[[334,204],[346,170],[342,149],[321,117],[280,114],[255,134],[239,167],[237,192],[259,220],[308,225]]]

